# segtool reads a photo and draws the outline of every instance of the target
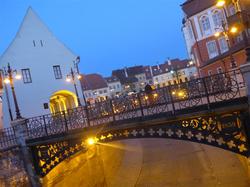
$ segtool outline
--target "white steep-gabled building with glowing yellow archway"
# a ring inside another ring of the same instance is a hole
[[[0,58],[0,67],[7,63],[22,75],[14,86],[22,117],[28,118],[78,106],[73,83],[66,82],[77,56],[61,43],[29,8],[9,47]],[[79,81],[76,80],[79,95]],[[10,109],[15,107],[7,85]],[[6,90],[3,93],[4,126],[9,126]]]

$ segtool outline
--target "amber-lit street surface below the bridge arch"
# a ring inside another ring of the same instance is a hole
[[[219,148],[169,139],[93,145],[60,163],[44,186],[250,186],[245,159]]]

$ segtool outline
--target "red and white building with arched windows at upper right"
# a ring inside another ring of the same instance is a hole
[[[249,0],[187,0],[182,31],[200,76],[230,71],[246,62]]]

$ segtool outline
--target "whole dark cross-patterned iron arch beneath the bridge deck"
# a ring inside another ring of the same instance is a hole
[[[243,156],[249,156],[249,145],[244,134],[240,112],[220,115],[197,116],[186,119],[168,120],[165,123],[133,125],[119,128],[113,124],[102,126],[95,132],[69,136],[63,141],[54,139],[51,143],[31,146],[35,168],[39,175],[45,176],[64,159],[79,151],[88,149],[87,139],[92,137],[96,143],[138,138],[168,138],[207,144]],[[157,146],[157,145],[156,145]]]

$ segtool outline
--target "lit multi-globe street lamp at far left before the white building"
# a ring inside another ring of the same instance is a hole
[[[21,119],[22,116],[21,116],[20,109],[19,109],[18,102],[17,102],[13,75],[15,74],[15,76],[14,76],[15,79],[21,79],[22,77],[21,77],[20,74],[17,73],[16,70],[12,70],[9,63],[7,65],[7,70],[4,68],[4,70],[1,70],[1,71],[2,71],[2,73],[4,75],[3,82],[4,82],[4,85],[5,85],[6,91],[7,91],[6,84],[10,84],[10,88],[11,88],[11,92],[12,92],[12,96],[13,96],[13,100],[14,100],[14,105],[15,105],[15,110],[16,110],[16,119]],[[6,94],[7,94],[7,92],[6,92]],[[8,102],[9,112],[10,112],[10,118],[11,118],[11,120],[13,120],[12,113],[11,113],[10,106],[9,106],[8,96],[7,96],[7,102]]]

